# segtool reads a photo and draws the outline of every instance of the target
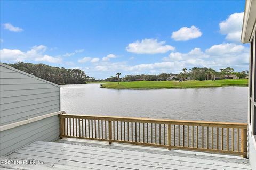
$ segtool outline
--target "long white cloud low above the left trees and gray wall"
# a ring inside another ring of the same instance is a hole
[[[1,49],[0,56],[1,60],[6,61],[46,61],[50,63],[61,63],[62,59],[60,57],[52,57],[50,55],[45,55],[47,47],[44,45],[34,46],[27,52],[22,52],[19,49]]]

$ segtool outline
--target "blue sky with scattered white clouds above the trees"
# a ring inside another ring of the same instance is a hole
[[[1,62],[79,68],[95,78],[246,70],[245,1],[1,1]]]

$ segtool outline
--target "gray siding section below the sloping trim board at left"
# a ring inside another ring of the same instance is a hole
[[[1,156],[9,155],[34,141],[59,139],[59,117],[52,116],[0,132]]]

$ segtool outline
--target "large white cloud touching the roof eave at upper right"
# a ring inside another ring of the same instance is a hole
[[[240,41],[244,13],[234,13],[228,16],[225,21],[219,23],[220,33],[227,35],[228,41]]]

